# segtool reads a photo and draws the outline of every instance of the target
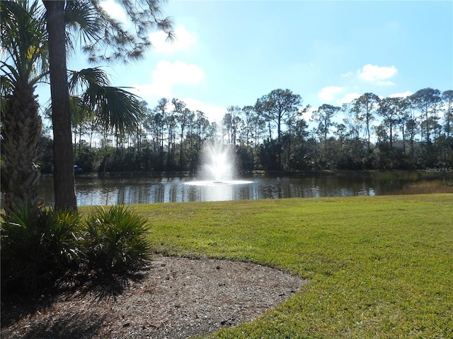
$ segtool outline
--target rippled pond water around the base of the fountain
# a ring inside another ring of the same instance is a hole
[[[230,182],[150,174],[76,174],[78,206],[188,201],[231,201],[396,194],[423,181],[451,183],[451,173],[345,172],[327,175],[258,176]],[[52,176],[42,176],[41,194],[52,204]]]

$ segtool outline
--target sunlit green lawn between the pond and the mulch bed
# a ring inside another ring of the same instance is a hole
[[[207,338],[453,338],[453,196],[136,205],[175,256],[253,261],[309,279]]]

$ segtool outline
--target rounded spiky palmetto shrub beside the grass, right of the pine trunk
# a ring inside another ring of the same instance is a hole
[[[93,268],[137,268],[149,259],[147,219],[122,205],[96,207],[86,218],[88,260]]]

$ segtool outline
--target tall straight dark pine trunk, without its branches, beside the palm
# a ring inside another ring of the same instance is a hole
[[[65,1],[42,1],[47,9],[49,34],[50,94],[54,133],[55,209],[77,210],[74,189],[74,153],[64,35]]]

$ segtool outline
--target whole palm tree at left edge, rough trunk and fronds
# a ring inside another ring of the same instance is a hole
[[[5,212],[38,204],[42,122],[35,87],[47,76],[45,13],[38,1],[1,1],[1,190]]]

